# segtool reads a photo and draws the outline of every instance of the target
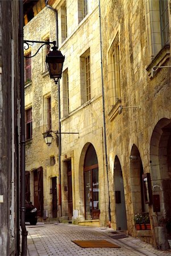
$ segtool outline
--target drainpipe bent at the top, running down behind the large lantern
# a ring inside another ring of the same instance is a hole
[[[57,10],[54,9],[52,6],[48,5],[49,0],[45,0],[45,5],[55,12],[56,14],[56,46],[59,48],[59,38],[58,38],[58,16],[57,16]],[[59,110],[59,217],[61,221],[62,216],[62,207],[61,207],[61,105],[60,105],[60,80],[57,82],[58,85],[58,110]]]

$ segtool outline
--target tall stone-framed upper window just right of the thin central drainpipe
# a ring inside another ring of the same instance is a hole
[[[109,96],[110,106],[116,104],[121,98],[120,91],[120,59],[119,59],[119,34],[115,36],[109,51]]]

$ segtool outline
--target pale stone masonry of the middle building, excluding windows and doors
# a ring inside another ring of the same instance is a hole
[[[58,1],[56,1],[57,4]],[[62,3],[61,3],[62,5]],[[60,5],[56,6],[60,17]],[[65,55],[63,71],[68,68],[69,80],[69,114],[64,114],[64,89],[61,84],[61,131],[78,134],[62,134],[61,152],[61,188],[62,213],[68,214],[68,192],[66,185],[65,160],[72,159],[72,189],[73,210],[78,210],[78,220],[85,220],[84,208],[84,158],[87,146],[93,144],[98,158],[99,168],[99,204],[101,209],[100,222],[106,225],[107,183],[103,150],[103,110],[102,110],[102,80],[101,55],[99,38],[98,1],[89,3],[89,11],[85,19],[78,24],[77,1],[69,1],[67,6],[68,36],[61,44],[60,51]],[[74,10],[74,11],[73,11]],[[60,27],[60,19],[59,19]],[[81,104],[80,56],[90,48],[91,100]],[[97,221],[96,221],[97,222]],[[99,225],[95,221],[91,225]],[[82,223],[82,222],[81,222]],[[85,225],[89,225],[85,222]]]

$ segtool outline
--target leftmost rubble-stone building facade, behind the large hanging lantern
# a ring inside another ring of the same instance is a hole
[[[44,1],[36,1],[31,7],[24,9],[24,40],[56,40],[55,13],[45,7]],[[24,56],[35,55],[40,46],[41,43],[35,43],[28,48],[25,44]],[[43,46],[34,57],[24,58],[26,199],[36,206],[40,220],[58,217],[59,200],[57,142],[54,139],[48,147],[42,135],[46,130],[58,130],[57,86],[50,80],[45,64],[48,51]]]

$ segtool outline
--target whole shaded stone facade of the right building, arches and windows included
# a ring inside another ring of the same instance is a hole
[[[170,68],[161,67],[170,66],[170,1],[101,0],[101,13],[111,224],[166,249],[171,91]],[[137,213],[149,214],[151,230],[135,229]]]

